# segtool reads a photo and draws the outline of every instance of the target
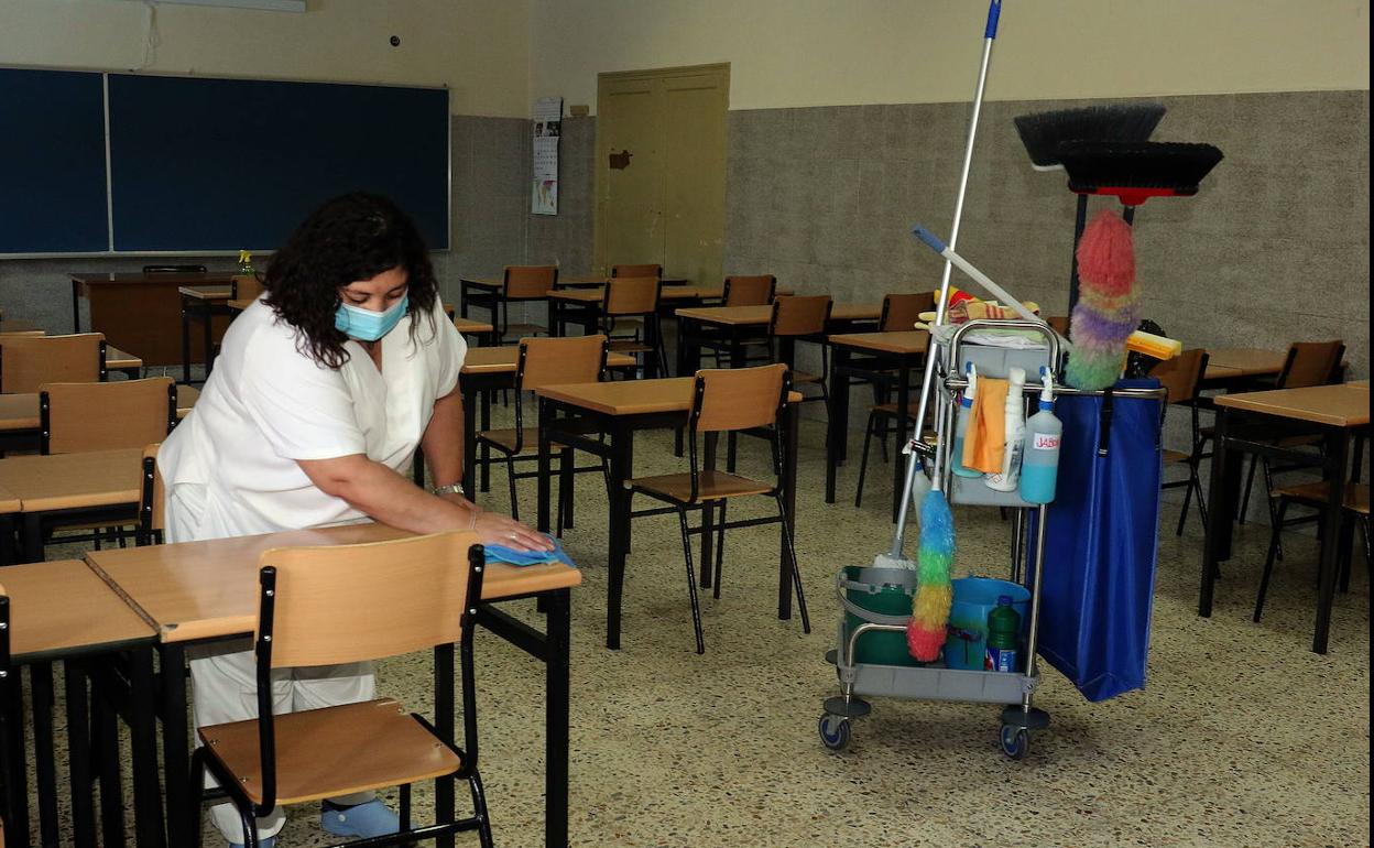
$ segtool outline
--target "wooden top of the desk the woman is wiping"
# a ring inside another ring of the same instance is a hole
[[[210,542],[91,551],[87,562],[143,610],[164,642],[247,634],[257,624],[258,557],[273,547],[357,544],[408,536],[381,524],[352,524]],[[0,572],[3,573],[3,572]],[[495,601],[572,588],[581,573],[562,564],[492,564],[482,598]]]

